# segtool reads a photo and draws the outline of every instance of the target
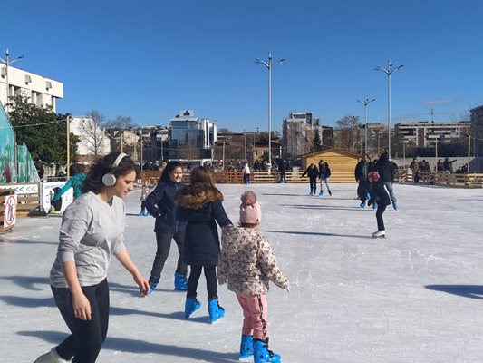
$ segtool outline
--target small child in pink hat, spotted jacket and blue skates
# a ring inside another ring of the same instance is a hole
[[[279,269],[268,241],[258,234],[262,211],[256,194],[241,195],[240,226],[227,226],[221,232],[221,254],[217,271],[219,284],[228,283],[243,309],[239,359],[254,356],[255,362],[280,362],[268,350],[268,284],[288,290],[288,280]]]

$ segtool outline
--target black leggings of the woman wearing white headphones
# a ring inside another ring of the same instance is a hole
[[[107,280],[93,286],[82,287],[91,304],[91,320],[77,319],[73,315],[72,294],[67,288],[52,288],[53,298],[72,335],[56,348],[62,358],[72,363],[93,363],[107,335],[109,324],[109,285]]]

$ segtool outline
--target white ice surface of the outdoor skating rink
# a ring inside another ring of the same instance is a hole
[[[372,239],[372,208],[359,208],[355,184],[311,197],[306,184],[218,185],[238,221],[239,195],[262,206],[260,232],[271,242],[291,292],[268,294],[270,348],[283,362],[483,362],[483,191],[394,186],[399,211],[384,213],[386,239]],[[126,240],[148,275],[156,250],[154,219],[140,217],[140,191],[126,199]],[[60,216],[18,218],[0,236],[0,362],[33,362],[68,334],[48,275]],[[173,290],[175,244],[158,289],[137,294],[112,260],[111,320],[99,362],[231,362],[242,315],[235,294],[218,288],[226,317],[208,324],[203,306],[184,319],[185,295]],[[146,276],[149,277],[149,276]]]

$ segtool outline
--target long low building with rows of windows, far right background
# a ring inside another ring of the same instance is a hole
[[[471,123],[461,121],[459,123],[396,123],[396,134],[416,147],[434,148],[436,142],[457,142],[463,136],[469,134]]]

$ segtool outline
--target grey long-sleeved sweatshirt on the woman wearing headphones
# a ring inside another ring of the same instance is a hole
[[[107,277],[111,256],[126,250],[124,225],[126,207],[121,198],[111,203],[89,191],[75,199],[63,212],[57,257],[50,274],[54,288],[68,288],[62,264],[75,261],[81,286],[92,286]]]

